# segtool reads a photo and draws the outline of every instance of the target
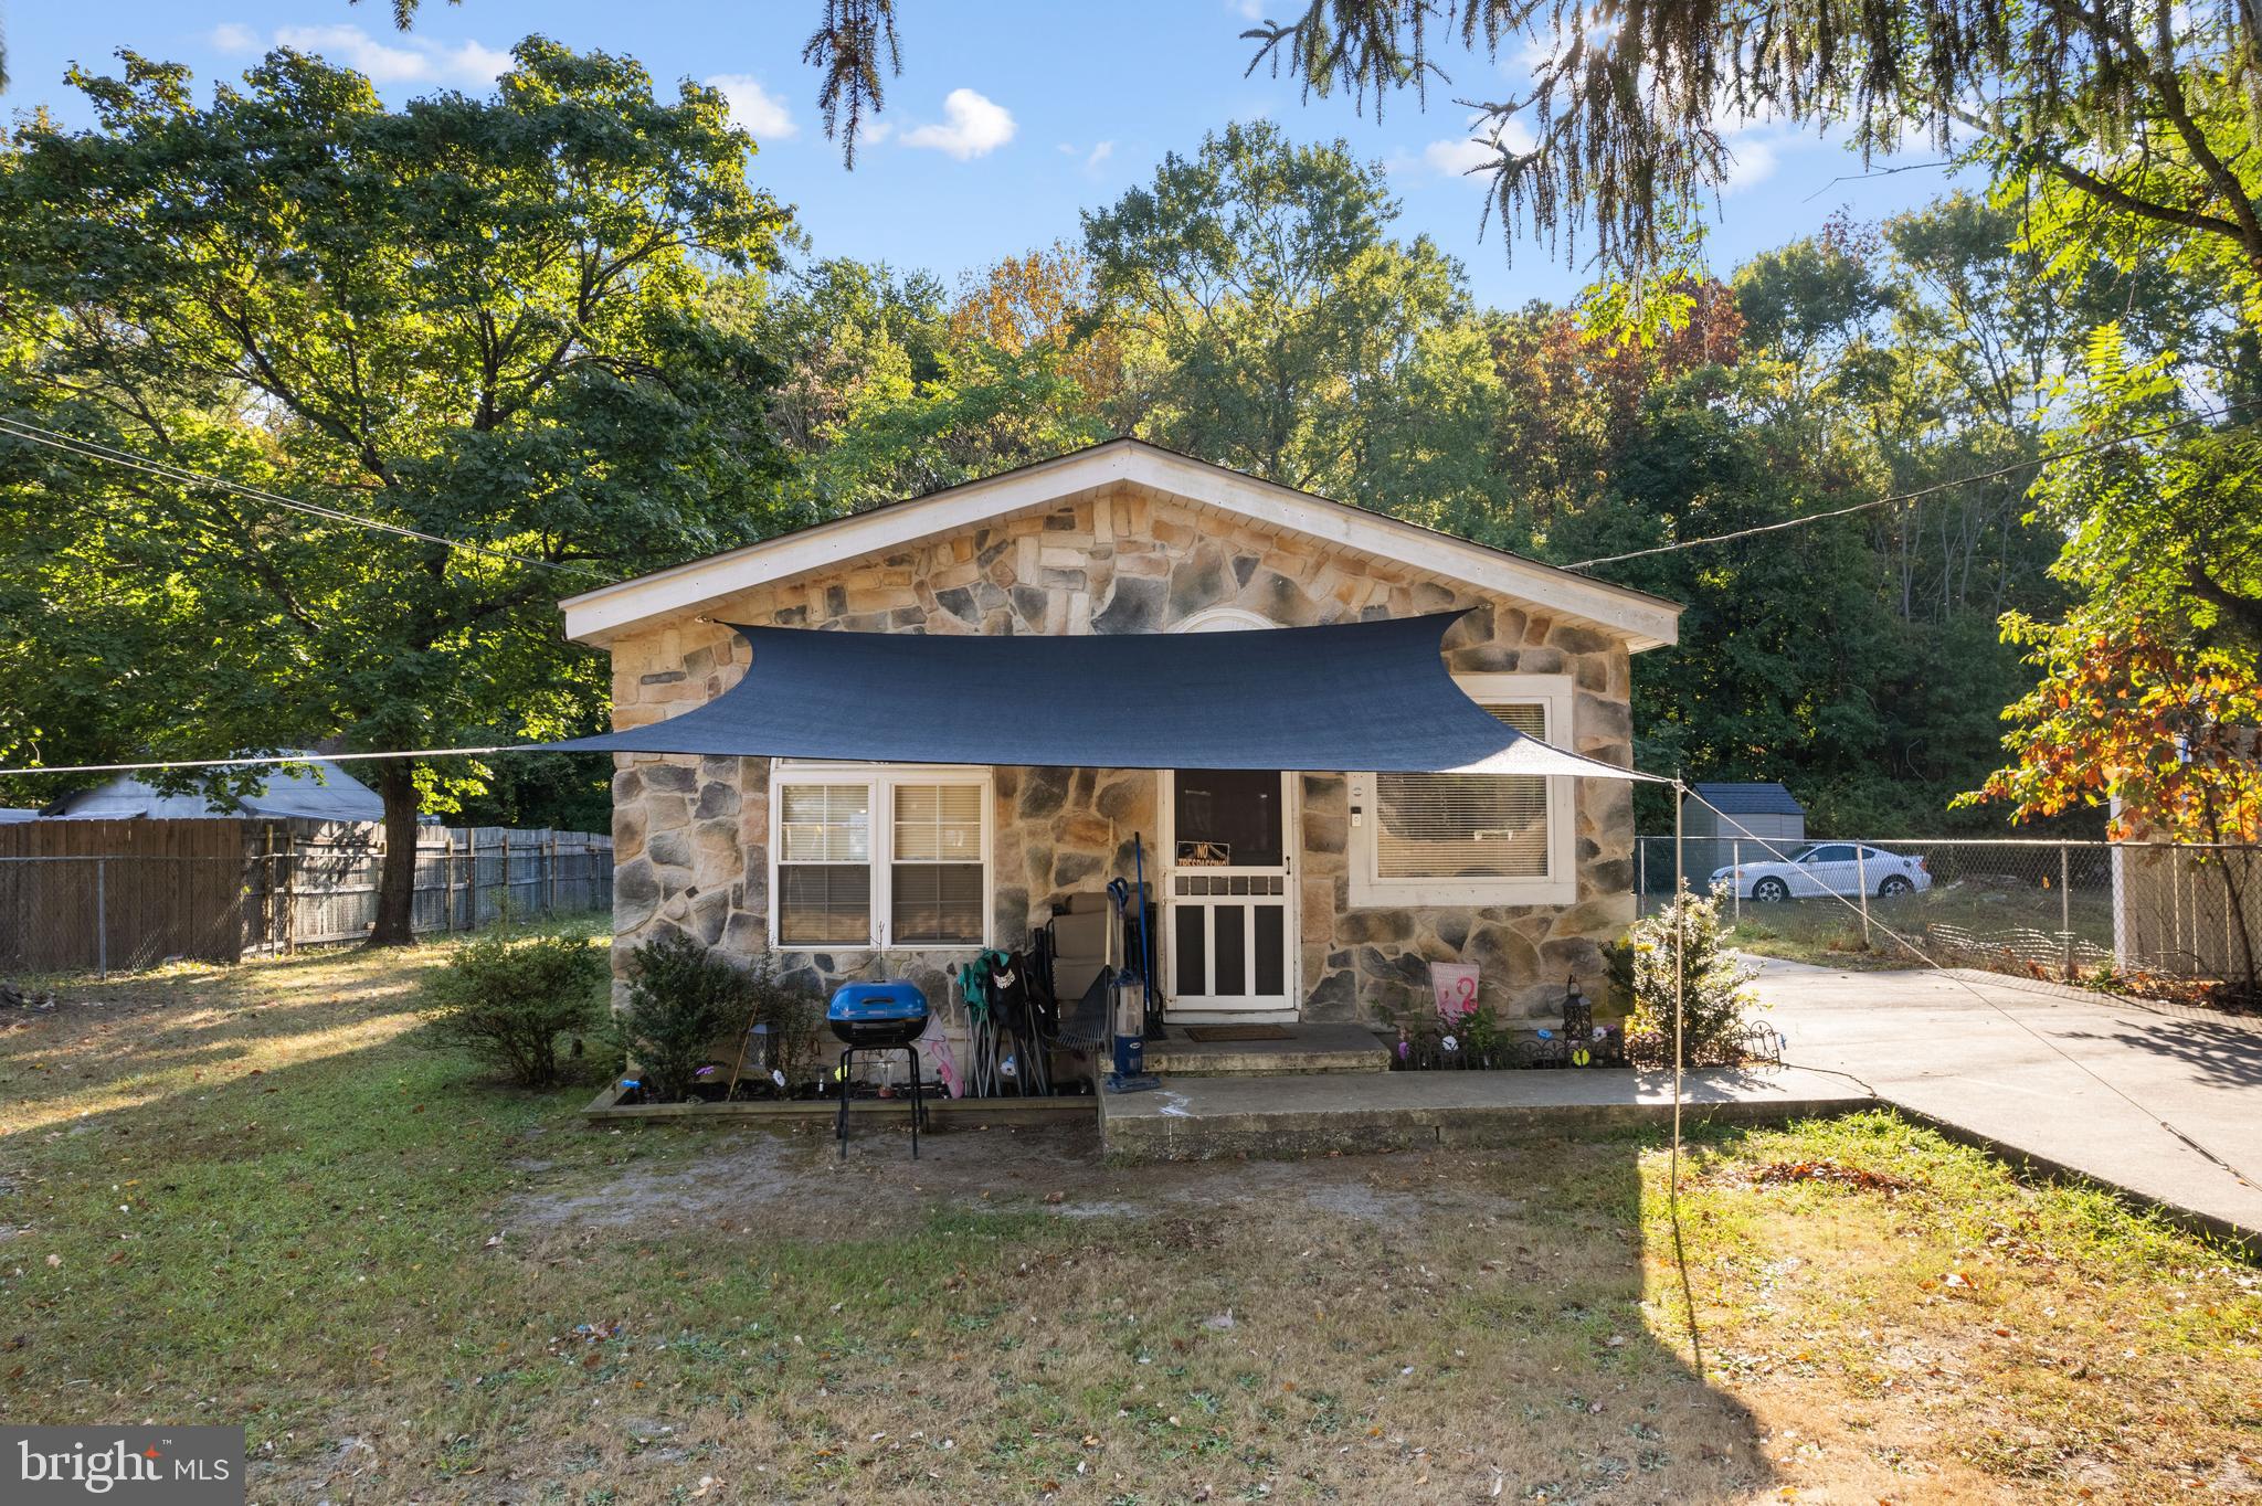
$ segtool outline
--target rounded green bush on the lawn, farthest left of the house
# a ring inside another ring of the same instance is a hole
[[[441,1040],[470,1049],[520,1088],[559,1081],[559,1036],[597,1020],[604,952],[586,936],[480,936],[425,986]]]

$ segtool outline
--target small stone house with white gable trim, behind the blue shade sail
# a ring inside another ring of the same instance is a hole
[[[1212,633],[1466,611],[1461,690],[1626,767],[1629,658],[1678,606],[1117,439],[563,601],[613,656],[615,728],[724,694],[724,624],[855,633]],[[1167,687],[1160,687],[1167,694]],[[839,687],[810,717],[887,715]],[[1043,715],[1043,708],[1022,708]],[[615,755],[615,961],[665,929],[875,970],[948,999],[1074,893],[1158,902],[1174,1022],[1384,1022],[1430,963],[1477,963],[1506,1020],[1552,1015],[1633,920],[1631,787],[1608,778],[848,764]]]

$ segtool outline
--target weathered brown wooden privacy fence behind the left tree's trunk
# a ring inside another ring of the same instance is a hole
[[[174,959],[360,941],[378,914],[382,828],[337,821],[23,821],[0,825],[0,970],[113,972]],[[425,828],[418,932],[604,911],[613,839]]]

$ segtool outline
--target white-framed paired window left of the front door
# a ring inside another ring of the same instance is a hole
[[[771,914],[780,950],[988,943],[986,769],[771,769]]]

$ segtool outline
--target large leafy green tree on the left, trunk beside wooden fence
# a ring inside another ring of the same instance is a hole
[[[88,726],[29,683],[34,649],[0,660],[25,721],[113,755],[599,721],[552,599],[760,534],[778,468],[769,364],[694,317],[708,265],[774,265],[787,226],[722,97],[658,102],[633,61],[543,38],[491,97],[400,111],[292,50],[208,106],[183,68],[122,59],[72,75],[90,131],[32,118],[0,154],[0,403],[416,538],[9,439],[36,595],[100,581],[174,620],[32,617],[138,690]],[[389,852],[443,773],[378,764]],[[407,941],[412,884],[387,864],[373,941]]]

